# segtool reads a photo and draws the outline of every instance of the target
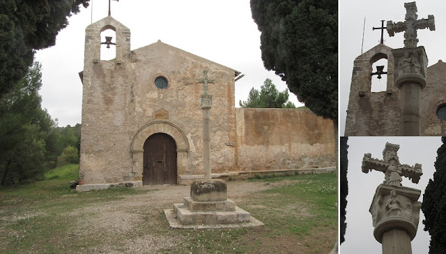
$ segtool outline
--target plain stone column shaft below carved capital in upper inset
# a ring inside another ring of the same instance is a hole
[[[415,82],[405,82],[401,85],[401,122],[399,135],[420,135],[420,91],[420,84]]]

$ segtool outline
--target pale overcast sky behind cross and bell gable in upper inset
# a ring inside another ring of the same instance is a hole
[[[406,15],[404,3],[409,0],[339,0],[339,132],[344,135],[348,94],[350,92],[353,61],[361,54],[362,29],[364,17],[366,18],[364,30],[363,52],[378,45],[380,30],[373,31],[372,27],[381,27],[380,20],[403,22]],[[439,59],[446,61],[444,42],[446,39],[446,1],[423,0],[417,1],[418,19],[434,15],[436,31],[429,29],[417,30],[420,42],[424,46],[429,66],[437,63]],[[384,23],[385,26],[386,22]],[[403,33],[395,33],[389,37],[384,32],[384,44],[392,48],[403,47]],[[385,70],[387,66],[385,66]],[[383,75],[386,77],[386,75]],[[374,76],[374,80],[376,76]],[[385,78],[379,80],[378,85],[385,87]]]

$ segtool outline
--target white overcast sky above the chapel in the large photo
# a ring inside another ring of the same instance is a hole
[[[36,54],[43,65],[42,105],[53,119],[59,119],[59,126],[81,122],[82,83],[78,73],[84,69],[85,28],[107,13],[107,0],[91,1],[89,8],[70,17],[54,47]],[[162,40],[245,74],[236,82],[237,107],[238,101],[246,100],[252,87],[260,89],[267,77],[279,91],[286,89],[274,72],[263,67],[260,32],[252,20],[249,0],[112,1],[112,17],[130,29],[131,50]],[[302,105],[293,94],[290,100]]]

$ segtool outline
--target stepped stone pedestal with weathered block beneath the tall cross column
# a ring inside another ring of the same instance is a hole
[[[164,210],[171,227],[216,228],[263,225],[227,199],[226,182],[220,179],[194,181],[190,197],[174,209]]]

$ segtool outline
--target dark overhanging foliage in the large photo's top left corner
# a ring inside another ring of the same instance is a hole
[[[0,1],[0,98],[26,75],[35,50],[51,47],[67,17],[89,0]]]

